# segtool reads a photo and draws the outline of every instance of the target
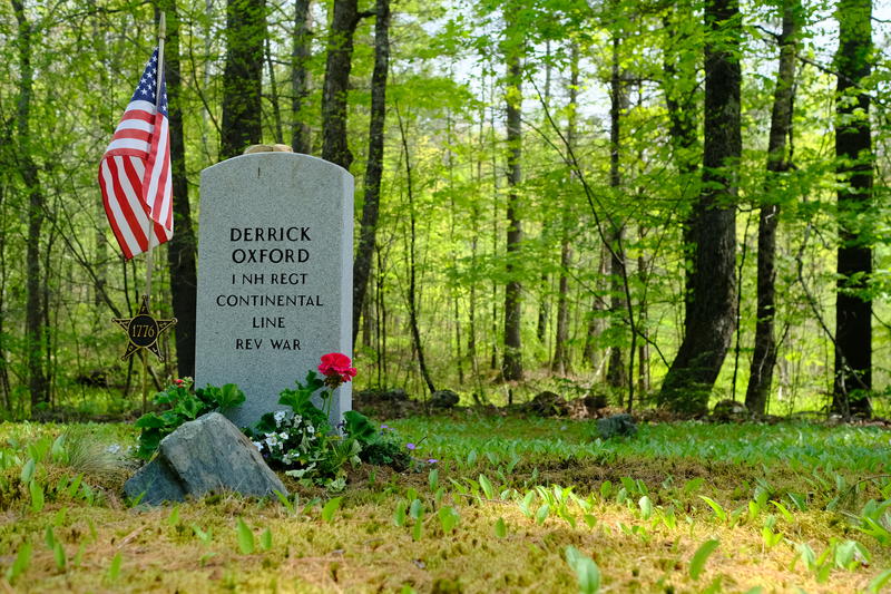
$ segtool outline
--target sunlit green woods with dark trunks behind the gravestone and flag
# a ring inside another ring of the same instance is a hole
[[[698,413],[888,411],[888,7],[865,0],[0,3],[0,416],[120,412],[138,303],[97,166],[168,23],[194,370],[199,172],[287,143],[356,177],[358,388]],[[294,378],[306,370],[295,369]]]

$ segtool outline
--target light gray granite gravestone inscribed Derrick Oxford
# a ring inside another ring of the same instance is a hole
[[[195,382],[237,383],[239,427],[327,352],[352,356],[353,176],[296,153],[202,172]],[[334,392],[332,423],[351,408]]]

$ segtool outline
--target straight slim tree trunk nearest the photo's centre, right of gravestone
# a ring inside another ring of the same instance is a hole
[[[506,14],[510,20],[510,16]],[[511,29],[511,23],[508,23]],[[518,251],[522,242],[522,223],[520,220],[520,195],[518,186],[521,181],[520,158],[522,156],[522,67],[520,65],[521,48],[509,41],[505,50],[507,61],[507,104],[508,128],[508,203],[507,203],[507,242],[505,244],[507,260],[507,279],[505,285],[505,352],[501,359],[501,376],[507,381],[522,379],[522,283],[517,274]]]

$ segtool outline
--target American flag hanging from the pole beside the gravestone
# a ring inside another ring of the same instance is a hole
[[[156,109],[158,79],[160,101]],[[167,86],[164,72],[158,72],[157,49],[99,164],[99,187],[108,222],[127,260],[149,249],[149,217],[153,247],[173,236]]]

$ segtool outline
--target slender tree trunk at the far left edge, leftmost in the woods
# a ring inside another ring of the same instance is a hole
[[[28,238],[26,241],[26,282],[27,300],[25,305],[25,338],[28,367],[28,389],[31,392],[31,415],[38,407],[49,403],[49,384],[43,370],[43,352],[46,348],[46,328],[42,315],[43,286],[40,274],[40,237],[45,218],[45,197],[38,177],[37,163],[33,159],[35,146],[31,138],[31,98],[33,96],[33,67],[31,23],[25,13],[21,0],[12,0],[12,9],[18,22],[16,42],[19,49],[19,105],[16,113],[17,150],[19,153],[19,172],[28,195]]]

